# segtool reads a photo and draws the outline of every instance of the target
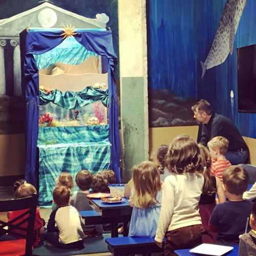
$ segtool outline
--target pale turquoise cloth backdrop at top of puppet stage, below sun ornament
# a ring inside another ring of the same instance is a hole
[[[57,62],[79,65],[91,56],[98,57],[98,54],[88,51],[73,36],[70,36],[52,50],[42,54],[34,54],[33,56],[37,68],[45,69]]]

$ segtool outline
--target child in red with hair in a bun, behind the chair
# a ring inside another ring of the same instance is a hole
[[[33,185],[29,184],[29,183],[24,183],[22,185],[20,185],[19,187],[16,188],[15,193],[14,193],[14,198],[25,198],[25,197],[31,197],[33,194],[36,194],[36,189]],[[16,211],[11,211],[10,212],[10,217],[9,217],[9,221],[15,219],[16,217],[18,217],[19,215],[22,215],[24,212],[26,212],[27,210],[16,210]],[[24,216],[22,219],[26,219],[27,215]],[[19,219],[18,222],[20,222],[22,219]],[[15,224],[15,222],[13,223]],[[42,240],[42,236],[44,234],[44,227],[43,227],[43,223],[40,217],[40,213],[39,213],[39,208],[36,208],[36,215],[35,215],[35,224],[34,224],[34,243],[33,246],[36,247],[39,245],[40,241]],[[28,227],[28,222],[25,222],[24,224],[22,224],[21,227]],[[22,231],[22,230],[16,230],[16,233],[20,233],[20,234],[26,234],[26,231]]]

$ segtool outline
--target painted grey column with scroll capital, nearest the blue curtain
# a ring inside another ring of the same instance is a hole
[[[11,39],[11,46],[14,47],[13,51],[13,75],[14,75],[14,92],[15,96],[22,95],[22,74],[20,67],[20,48],[17,39]]]

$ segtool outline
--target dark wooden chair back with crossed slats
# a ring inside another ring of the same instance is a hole
[[[26,198],[0,201],[0,212],[25,210],[11,221],[4,222],[0,220],[0,236],[8,233],[10,236],[13,235],[18,238],[26,239],[26,255],[32,255],[36,206],[36,194]],[[28,222],[28,225],[25,228],[22,224],[26,222]],[[8,229],[6,229],[6,227],[8,227]]]

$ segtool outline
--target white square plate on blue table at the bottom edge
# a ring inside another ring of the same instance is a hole
[[[233,249],[233,247],[231,247],[231,246],[224,246],[224,245],[217,245],[217,244],[201,244],[201,245],[189,250],[189,252],[221,256],[221,255],[227,253],[228,251],[231,251],[232,249]]]

